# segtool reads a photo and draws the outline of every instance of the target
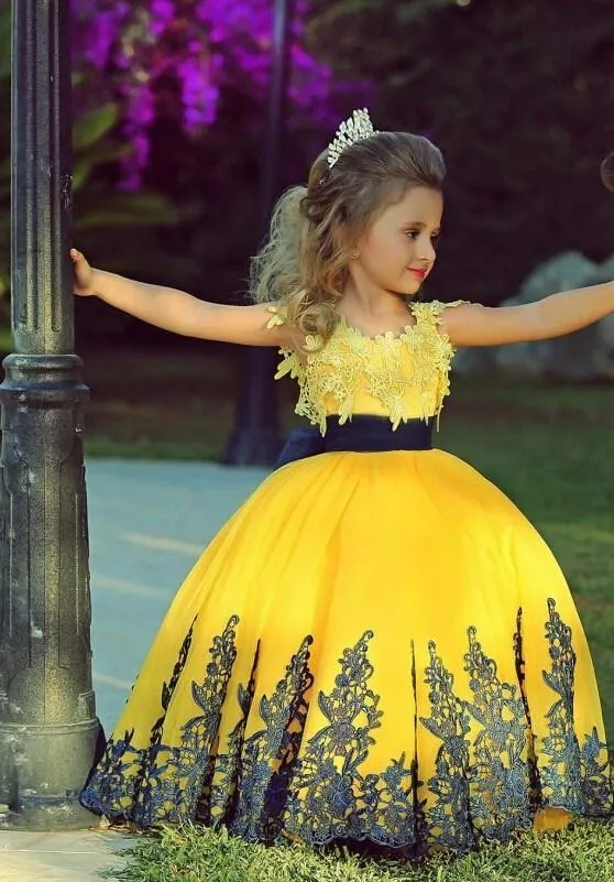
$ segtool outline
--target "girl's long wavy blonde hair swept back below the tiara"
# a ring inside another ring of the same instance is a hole
[[[339,320],[352,247],[407,189],[440,190],[445,175],[439,149],[408,132],[359,141],[331,168],[325,151],[307,186],[286,190],[275,206],[268,238],[251,262],[252,297],[284,305],[304,334],[328,339]]]

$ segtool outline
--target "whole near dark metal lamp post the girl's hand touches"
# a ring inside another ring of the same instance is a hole
[[[99,722],[73,355],[69,0],[13,0],[12,329],[0,385],[0,826],[87,826]]]

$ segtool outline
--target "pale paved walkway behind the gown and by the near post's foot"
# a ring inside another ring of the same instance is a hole
[[[173,595],[266,470],[215,464],[87,464],[94,685],[109,732]],[[109,831],[0,831],[0,882],[90,882],[133,840]]]

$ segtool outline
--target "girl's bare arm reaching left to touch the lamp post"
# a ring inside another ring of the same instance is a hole
[[[245,344],[248,346],[284,346],[292,342],[292,328],[273,325],[267,304],[228,306],[207,303],[161,285],[150,285],[123,275],[95,270],[85,257],[73,249],[75,294],[98,296],[111,306],[184,337]]]

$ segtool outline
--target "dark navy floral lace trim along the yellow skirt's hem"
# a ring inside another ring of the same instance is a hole
[[[534,753],[524,693],[522,611],[511,641],[517,680],[504,683],[475,628],[468,629],[464,672],[472,698],[461,698],[454,676],[434,642],[423,672],[430,714],[415,719],[435,739],[435,771],[420,780],[419,755],[392,758],[385,769],[364,772],[375,743],[372,732],[385,726],[380,696],[369,685],[374,669],[366,631],[342,651],[333,688],[314,695],[309,667],[314,639],[307,635],[270,696],[253,706],[259,649],[250,682],[228,686],[237,658],[233,616],[213,638],[201,683],[182,683],[191,646],[190,629],[168,684],[163,684],[161,717],[145,748],[133,745],[133,731],[107,744],[81,802],[99,814],[134,820],[142,827],[195,820],[224,824],[251,841],[284,843],[299,837],[311,845],[369,841],[407,856],[443,846],[459,853],[484,839],[506,842],[529,828],[538,808],[556,806],[588,817],[612,819],[614,791],[607,749],[596,729],[574,730],[575,656],[571,629],[553,600],[548,601],[546,639],[551,666],[545,683],[556,695],[540,716],[542,748]],[[415,654],[408,647],[405,671],[416,690]],[[178,743],[162,741],[164,720],[176,689],[188,690],[195,716],[182,727]],[[465,693],[467,694],[467,693]],[[234,704],[237,703],[237,704]],[[311,703],[326,725],[304,738]],[[220,743],[222,714],[239,721]],[[245,738],[248,717],[262,726]],[[412,741],[414,736],[409,736]],[[222,750],[223,748],[223,750]]]

